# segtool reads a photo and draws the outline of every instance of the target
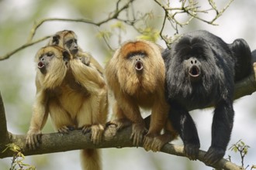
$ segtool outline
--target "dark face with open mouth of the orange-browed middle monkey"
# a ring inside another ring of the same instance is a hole
[[[127,55],[137,73],[142,73],[144,70],[144,57],[146,56],[147,54],[144,51],[131,52]]]

